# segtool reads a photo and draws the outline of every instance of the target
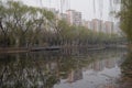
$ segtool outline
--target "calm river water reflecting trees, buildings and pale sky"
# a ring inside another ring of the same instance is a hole
[[[124,50],[1,54],[0,88],[123,88],[127,55]]]

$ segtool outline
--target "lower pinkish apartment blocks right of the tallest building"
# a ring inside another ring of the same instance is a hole
[[[99,19],[92,19],[91,21],[82,21],[82,25],[94,32],[103,32],[103,33],[120,33],[119,22],[114,23],[111,21],[102,21]]]

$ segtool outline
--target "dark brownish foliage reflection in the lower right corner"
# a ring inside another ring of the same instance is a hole
[[[132,52],[128,53],[127,59],[121,65],[121,70],[120,88],[132,88]]]

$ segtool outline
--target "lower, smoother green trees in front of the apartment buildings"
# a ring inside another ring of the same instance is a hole
[[[57,32],[63,45],[103,45],[117,43],[120,36],[94,32],[85,26],[68,25],[65,21],[58,21]]]

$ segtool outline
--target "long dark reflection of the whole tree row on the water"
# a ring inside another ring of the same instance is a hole
[[[0,55],[0,87],[53,88],[61,79],[68,78],[72,82],[80,79],[82,67],[95,61],[119,56],[113,51],[79,55],[63,56],[47,53]]]

